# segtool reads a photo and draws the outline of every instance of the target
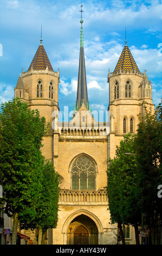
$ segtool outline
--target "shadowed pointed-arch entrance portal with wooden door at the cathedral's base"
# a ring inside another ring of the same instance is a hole
[[[88,216],[81,214],[70,222],[68,245],[98,245],[98,228]]]

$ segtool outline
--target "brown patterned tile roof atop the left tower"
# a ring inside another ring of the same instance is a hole
[[[31,70],[31,68],[33,68],[34,70],[46,69],[47,66],[50,71],[53,71],[53,68],[50,64],[47,53],[46,53],[43,45],[40,44],[38,46],[38,49],[35,53],[35,56],[30,64],[30,66],[29,66],[28,71]]]

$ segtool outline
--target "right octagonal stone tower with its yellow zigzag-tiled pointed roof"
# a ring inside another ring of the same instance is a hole
[[[108,73],[110,129],[109,145],[119,144],[126,133],[137,131],[139,113],[145,109],[154,111],[152,87],[146,70],[142,74],[132,56],[127,42],[121,52],[118,63],[112,73]],[[109,157],[113,157],[114,148],[109,147]]]

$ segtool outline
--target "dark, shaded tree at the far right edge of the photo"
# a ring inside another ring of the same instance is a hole
[[[139,119],[140,123],[135,138],[135,148],[138,152],[138,205],[145,215],[148,227],[152,229],[152,243],[157,243],[158,241],[155,241],[157,237],[153,239],[153,230],[161,212],[161,198],[157,196],[158,185],[162,184],[161,103],[154,114],[146,111],[144,116],[139,116]]]

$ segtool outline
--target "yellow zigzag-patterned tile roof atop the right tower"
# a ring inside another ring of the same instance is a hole
[[[120,58],[118,60],[118,63],[115,66],[114,72],[116,71],[122,71],[122,70],[127,70],[127,71],[139,71],[137,64],[135,63],[135,60],[132,56],[131,51],[129,50],[128,46],[125,45],[123,48]]]

